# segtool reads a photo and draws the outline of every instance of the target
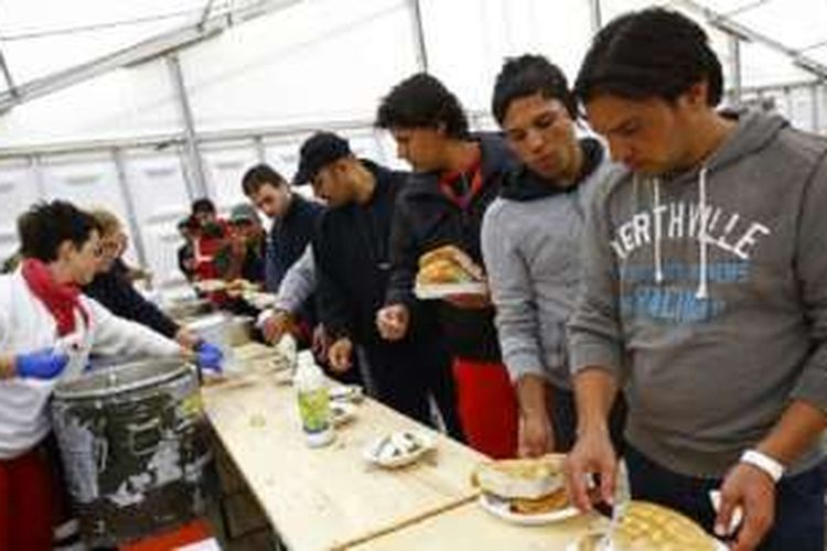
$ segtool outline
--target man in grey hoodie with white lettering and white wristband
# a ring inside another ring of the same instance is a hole
[[[593,202],[569,324],[574,503],[591,507],[589,473],[612,500],[605,418],[623,388],[634,498],[738,551],[821,551],[827,141],[716,111],[722,72],[705,32],[663,9],[606,25],[574,91],[629,168]]]

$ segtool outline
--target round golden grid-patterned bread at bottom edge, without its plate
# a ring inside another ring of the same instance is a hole
[[[717,547],[694,520],[646,501],[625,506],[611,539],[615,551],[715,551]]]

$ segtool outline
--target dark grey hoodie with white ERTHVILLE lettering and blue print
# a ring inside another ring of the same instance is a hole
[[[722,477],[791,400],[827,411],[826,153],[742,112],[701,166],[593,202],[572,368],[621,378],[629,442],[670,471]]]

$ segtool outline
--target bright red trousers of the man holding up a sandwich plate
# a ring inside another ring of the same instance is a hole
[[[517,398],[502,364],[453,359],[457,411],[468,443],[502,460],[517,454]]]

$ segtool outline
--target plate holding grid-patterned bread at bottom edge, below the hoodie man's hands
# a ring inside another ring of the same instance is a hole
[[[632,500],[603,530],[584,534],[567,551],[726,551],[689,517],[648,501]]]

